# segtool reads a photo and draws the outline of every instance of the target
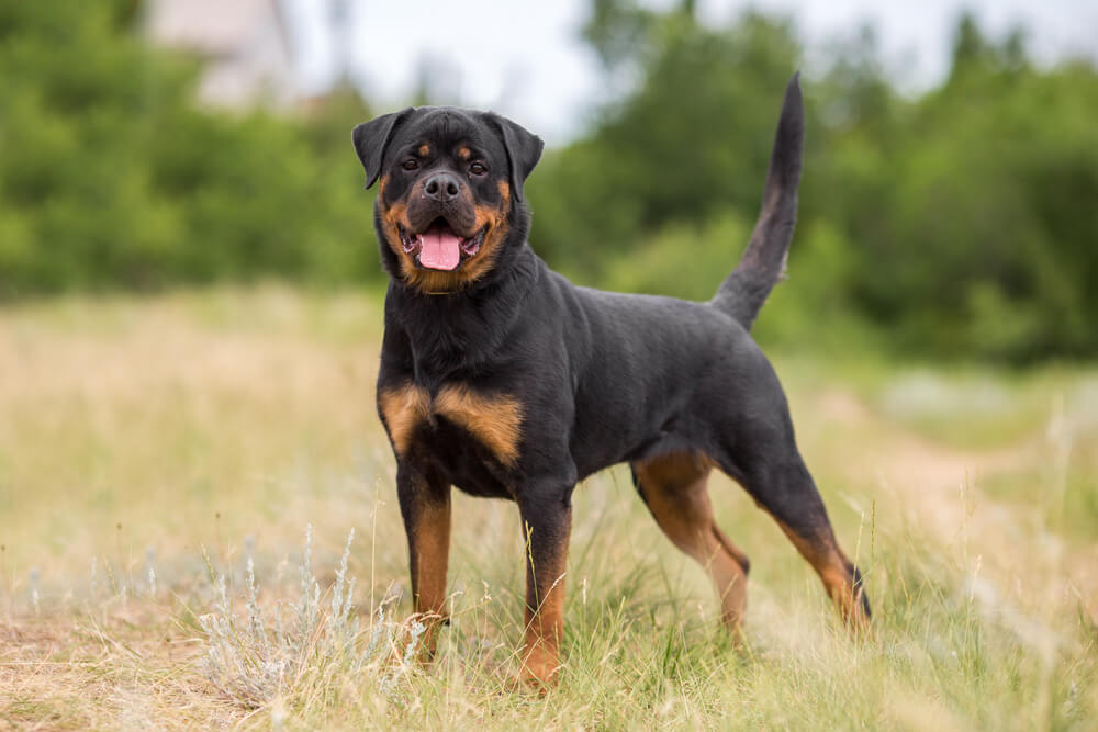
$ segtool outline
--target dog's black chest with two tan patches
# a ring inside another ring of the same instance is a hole
[[[509,494],[500,478],[519,457],[518,399],[460,382],[432,393],[407,381],[380,390],[378,407],[397,458],[429,461],[470,493]]]

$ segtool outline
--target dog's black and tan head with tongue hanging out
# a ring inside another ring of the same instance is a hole
[[[426,294],[458,292],[503,267],[526,238],[523,183],[542,142],[511,120],[407,108],[355,127],[390,275]]]

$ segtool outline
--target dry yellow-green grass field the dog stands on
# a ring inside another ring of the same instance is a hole
[[[775,354],[872,634],[715,478],[752,560],[732,647],[616,470],[575,493],[542,698],[508,690],[509,504],[456,498],[453,620],[406,663],[380,328],[361,293],[273,286],[0,312],[0,728],[1098,729],[1098,370]]]

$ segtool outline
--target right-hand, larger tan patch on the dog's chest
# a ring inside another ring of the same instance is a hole
[[[500,462],[515,464],[523,425],[523,408],[517,399],[448,385],[438,393],[434,410],[475,437]]]

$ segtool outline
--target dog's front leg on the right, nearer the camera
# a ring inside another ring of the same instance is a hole
[[[526,540],[526,632],[520,680],[546,686],[560,666],[564,633],[564,567],[572,507],[563,496],[519,500]]]

